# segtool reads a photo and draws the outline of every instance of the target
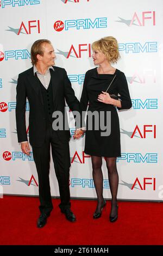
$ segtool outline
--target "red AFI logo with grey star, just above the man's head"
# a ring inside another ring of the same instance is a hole
[[[36,32],[37,34],[40,34],[40,21],[31,20],[31,21],[27,21],[27,23],[22,21],[19,28],[12,28],[9,26],[8,28],[9,29],[5,29],[5,31],[13,32],[16,35],[20,35],[20,33],[27,34],[27,35],[32,34],[33,29],[34,29],[34,32]]]

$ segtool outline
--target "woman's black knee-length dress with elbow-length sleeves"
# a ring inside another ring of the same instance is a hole
[[[128,84],[123,72],[116,69],[114,75],[98,74],[97,68],[88,70],[85,74],[82,97],[80,99],[80,107],[82,111],[86,111],[89,102],[88,111],[103,111],[104,122],[106,125],[106,111],[111,112],[111,133],[109,136],[101,136],[102,130],[86,130],[85,133],[85,149],[84,152],[92,156],[117,157],[121,156],[120,144],[120,124],[117,110],[113,105],[97,101],[98,95],[108,88],[112,78],[115,77],[108,93],[121,95],[121,108],[131,107],[131,99],[128,90]],[[93,120],[93,119],[92,119]],[[87,127],[90,119],[87,118]],[[92,126],[94,127],[93,122]]]

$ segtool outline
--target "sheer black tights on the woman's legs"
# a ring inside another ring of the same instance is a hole
[[[104,204],[103,198],[103,173],[102,173],[102,157],[91,156],[92,160],[92,175],[97,193],[97,208],[96,212],[100,212]],[[109,185],[111,191],[111,212],[110,216],[114,217],[117,214],[117,190],[118,190],[118,173],[116,167],[116,157],[106,157],[106,167],[108,169]]]

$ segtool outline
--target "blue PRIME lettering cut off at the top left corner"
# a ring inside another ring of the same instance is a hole
[[[0,0],[0,8],[40,4],[40,0]]]

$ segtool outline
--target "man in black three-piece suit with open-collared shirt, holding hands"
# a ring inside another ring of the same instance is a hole
[[[79,101],[74,95],[70,80],[65,69],[54,66],[54,48],[49,40],[41,39],[34,42],[31,48],[33,67],[18,76],[16,95],[16,126],[18,142],[24,154],[30,154],[26,133],[26,98],[29,101],[29,142],[32,145],[33,157],[39,178],[39,199],[41,215],[37,227],[47,223],[47,217],[53,209],[51,188],[49,185],[50,146],[57,176],[61,203],[59,207],[68,221],[76,221],[70,210],[70,150],[69,130],[53,130],[52,114],[60,111],[67,122],[65,99],[72,111],[78,111]],[[78,130],[75,138],[83,135]]]

